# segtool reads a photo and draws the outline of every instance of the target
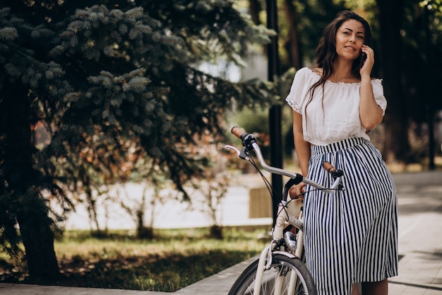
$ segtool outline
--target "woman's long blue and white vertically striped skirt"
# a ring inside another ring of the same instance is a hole
[[[381,153],[360,138],[312,146],[308,177],[330,187],[329,161],[344,171],[345,191],[306,186],[306,264],[318,294],[349,295],[352,284],[398,275],[398,202]]]

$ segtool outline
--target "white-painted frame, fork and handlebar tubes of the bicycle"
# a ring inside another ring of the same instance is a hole
[[[265,160],[263,158],[263,154],[261,153],[261,149],[259,148],[258,144],[256,142],[253,142],[251,144],[253,147],[253,151],[255,152],[256,158],[258,158],[258,161],[261,165],[261,167],[270,172],[277,175],[285,175],[289,178],[299,178],[299,174],[297,173],[291,173],[287,170],[283,170],[280,168],[268,166],[267,163],[265,163]],[[240,156],[241,151],[237,149],[234,146],[227,145],[225,146],[227,149],[233,149],[237,152],[238,156]],[[246,156],[245,160],[250,160],[249,156]],[[322,190],[323,192],[334,192],[338,189],[338,186],[340,185],[341,178],[336,178],[333,185],[331,187],[323,187],[322,185],[315,183],[312,180],[302,178],[302,182],[311,185],[313,187],[316,187],[318,190]],[[270,242],[270,245],[266,246],[264,250],[261,252],[261,255],[259,257],[258,261],[258,270],[256,272],[255,277],[255,284],[253,288],[253,295],[260,295],[261,293],[261,282],[263,280],[263,274],[265,270],[269,270],[272,265],[272,254],[278,253],[282,255],[286,255],[289,258],[301,258],[302,252],[304,250],[304,222],[302,221],[302,212],[300,212],[299,216],[292,216],[291,214],[287,213],[287,201],[282,200],[280,204],[278,204],[278,214],[275,221],[275,226],[272,230],[272,241]],[[294,250],[294,255],[292,253],[289,253],[287,251],[280,251],[275,250],[275,245],[278,241],[280,241],[282,238],[284,238],[284,228],[287,226],[287,224],[292,224],[292,226],[297,227],[299,231],[297,232],[297,248]],[[282,277],[277,276],[275,281],[275,295],[281,295],[281,289],[282,289]],[[289,293],[293,294],[294,289],[297,287],[297,274],[295,272],[291,272],[290,274],[290,282],[289,282]]]

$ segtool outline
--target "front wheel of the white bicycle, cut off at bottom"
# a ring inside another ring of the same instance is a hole
[[[249,265],[234,282],[229,295],[252,295],[258,260]],[[299,258],[272,255],[272,265],[264,270],[261,295],[316,295],[316,287],[307,267]]]

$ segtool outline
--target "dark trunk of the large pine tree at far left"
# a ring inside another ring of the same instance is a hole
[[[52,281],[60,277],[52,220],[38,190],[40,177],[32,168],[30,102],[28,92],[22,88],[10,83],[0,93],[2,119],[8,122],[4,131],[4,175],[16,203],[11,214],[16,214],[20,226],[30,279]]]

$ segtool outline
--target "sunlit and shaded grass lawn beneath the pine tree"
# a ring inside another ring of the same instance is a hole
[[[62,286],[173,292],[261,252],[268,227],[225,228],[222,240],[208,229],[157,230],[153,240],[127,231],[94,237],[89,231],[66,231],[54,247]],[[0,267],[0,282],[32,283],[20,264],[13,272]]]

